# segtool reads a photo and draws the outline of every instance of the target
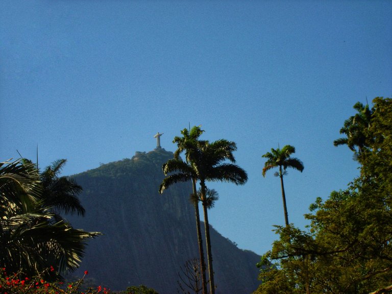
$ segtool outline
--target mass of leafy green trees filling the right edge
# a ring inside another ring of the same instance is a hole
[[[373,103],[372,111],[356,104],[360,114],[344,127],[346,134],[355,133],[347,142],[361,163],[360,177],[326,201],[316,199],[305,215],[311,221],[307,232],[277,228],[279,240],[258,264],[262,284],[255,294],[388,293],[392,288],[392,101]]]

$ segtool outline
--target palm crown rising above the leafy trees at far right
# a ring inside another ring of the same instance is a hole
[[[335,146],[348,145],[356,157],[360,156],[365,148],[368,148],[370,142],[366,137],[366,130],[371,126],[371,119],[374,109],[369,105],[363,105],[357,102],[353,107],[358,113],[345,120],[340,134],[345,134],[345,138],[339,138],[333,141]]]

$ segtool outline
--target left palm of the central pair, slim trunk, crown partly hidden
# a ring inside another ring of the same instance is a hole
[[[202,130],[192,129],[188,132],[187,129],[181,131],[182,137],[176,136],[173,140],[174,143],[177,143],[178,149],[174,153],[174,158],[169,159],[166,163],[163,164],[162,170],[165,176],[161,185],[159,186],[159,193],[163,193],[163,191],[169,186],[180,183],[180,182],[192,182],[192,194],[191,200],[194,206],[195,218],[196,218],[196,232],[198,236],[198,247],[199,247],[199,255],[200,255],[200,265],[201,265],[201,277],[202,277],[202,291],[203,294],[207,294],[207,280],[206,280],[206,263],[204,260],[204,250],[203,250],[203,239],[201,233],[200,226],[200,212],[199,212],[199,202],[196,199],[197,189],[196,189],[196,181],[197,175],[195,175],[194,170],[189,164],[189,152],[190,146],[195,144],[195,142],[199,139],[200,135],[203,133]],[[180,158],[180,154],[185,152],[186,162],[182,161]],[[177,172],[177,173],[176,173]]]

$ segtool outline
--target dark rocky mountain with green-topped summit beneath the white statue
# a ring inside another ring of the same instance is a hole
[[[90,278],[112,290],[144,284],[160,294],[177,293],[180,266],[199,253],[190,184],[158,193],[161,167],[169,158],[173,153],[163,149],[137,152],[132,159],[73,177],[83,187],[86,216],[69,220],[75,228],[104,233],[89,241],[79,274],[88,269]],[[210,232],[216,293],[255,290],[259,256],[238,249],[212,228]]]

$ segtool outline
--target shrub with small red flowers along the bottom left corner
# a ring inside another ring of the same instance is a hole
[[[84,272],[82,279],[64,285],[62,282],[46,282],[42,276],[45,272],[54,272],[53,266],[47,268],[43,273],[39,273],[35,277],[26,277],[23,273],[15,273],[7,275],[6,268],[0,269],[0,293],[3,294],[109,294],[110,290],[102,286],[89,288],[86,291],[80,290],[83,279],[88,272]]]

